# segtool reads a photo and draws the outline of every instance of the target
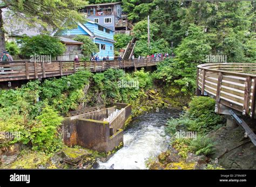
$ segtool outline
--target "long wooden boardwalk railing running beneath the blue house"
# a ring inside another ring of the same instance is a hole
[[[155,66],[165,58],[148,58],[134,60],[112,60],[112,61],[51,61],[51,62],[29,62],[14,61],[0,62],[0,82],[15,80],[30,80],[35,78],[46,78],[70,75],[80,69],[88,69],[92,72],[104,71],[109,68],[130,68]]]

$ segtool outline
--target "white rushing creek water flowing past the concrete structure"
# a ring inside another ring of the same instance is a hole
[[[134,118],[124,132],[124,147],[107,162],[100,162],[99,169],[147,169],[145,161],[167,149],[169,141],[164,125],[179,113],[177,110],[160,110]]]

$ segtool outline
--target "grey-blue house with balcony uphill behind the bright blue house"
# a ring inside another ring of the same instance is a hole
[[[91,4],[80,9],[88,19],[98,24],[111,28],[114,31],[130,31],[133,25],[127,21],[127,16],[122,10],[122,2]]]

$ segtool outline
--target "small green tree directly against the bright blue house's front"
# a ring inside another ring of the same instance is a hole
[[[84,43],[82,46],[82,51],[85,57],[91,57],[92,54],[99,52],[98,46],[94,44],[93,41],[86,35],[77,35],[74,40]]]

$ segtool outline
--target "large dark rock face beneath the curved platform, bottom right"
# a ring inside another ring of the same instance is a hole
[[[225,169],[256,169],[256,147],[244,133],[241,127],[212,131],[208,136],[215,141],[215,153],[210,157]]]

